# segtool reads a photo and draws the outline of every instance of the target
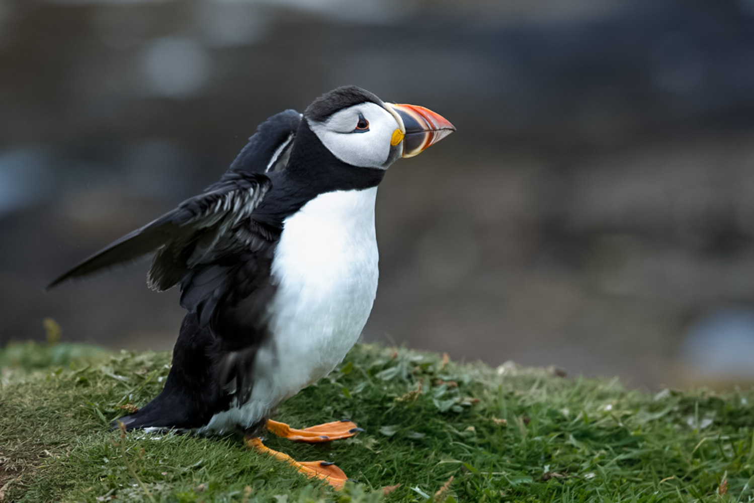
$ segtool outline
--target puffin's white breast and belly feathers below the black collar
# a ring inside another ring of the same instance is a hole
[[[272,336],[256,355],[250,400],[202,431],[253,425],[330,373],[357,341],[377,293],[376,195],[376,187],[328,192],[285,220],[272,262]]]

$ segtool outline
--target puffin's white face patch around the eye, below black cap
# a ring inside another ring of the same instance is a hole
[[[324,146],[341,161],[359,167],[388,168],[391,140],[403,125],[376,103],[359,103],[339,110],[309,127]]]

